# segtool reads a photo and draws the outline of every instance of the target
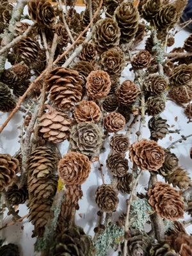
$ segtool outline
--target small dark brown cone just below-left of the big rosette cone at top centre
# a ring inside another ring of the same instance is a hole
[[[93,62],[96,60],[97,51],[96,47],[92,43],[83,44],[83,49],[79,54],[79,60]]]

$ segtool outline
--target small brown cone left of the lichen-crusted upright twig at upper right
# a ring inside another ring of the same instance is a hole
[[[134,70],[146,68],[151,61],[151,55],[148,51],[142,50],[138,52],[131,61]]]

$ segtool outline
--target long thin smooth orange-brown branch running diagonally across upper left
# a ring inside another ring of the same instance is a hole
[[[95,17],[97,17],[100,8],[102,6],[102,0],[100,1],[99,4],[99,8],[97,9],[97,12],[95,12],[95,15],[93,16],[93,19],[95,19]],[[81,36],[84,35],[84,33],[86,33],[86,31],[88,31],[88,29],[90,28],[90,26],[93,23],[93,19],[90,21],[90,23],[88,24],[88,26],[79,34],[79,36],[77,37],[76,41],[70,45],[70,47],[68,47],[68,49],[63,52],[63,54],[61,54],[58,58],[56,58],[56,60],[52,63],[53,65],[56,64],[59,60],[61,60],[61,58],[63,58],[68,52],[70,52],[70,50],[73,49],[73,47],[77,44],[77,42],[79,41],[79,39],[81,38]],[[81,46],[81,45],[80,45]],[[45,68],[45,70],[42,72],[42,74],[40,74],[40,76],[36,77],[34,83],[36,83],[37,81],[39,81],[40,79],[42,79],[42,77],[45,75],[45,73],[47,72],[47,68]],[[5,120],[4,124],[1,125],[0,128],[0,133],[4,130],[4,127],[6,127],[6,125],[8,124],[8,122],[10,122],[10,120],[12,119],[13,115],[15,115],[15,113],[19,110],[20,105],[22,104],[22,101],[26,98],[26,96],[28,95],[28,93],[31,91],[31,89],[33,88],[33,83],[31,83],[28,87],[28,89],[26,90],[26,92],[24,92],[24,94],[20,97],[17,106],[13,109],[12,113],[10,113],[10,115],[8,116],[8,118]]]

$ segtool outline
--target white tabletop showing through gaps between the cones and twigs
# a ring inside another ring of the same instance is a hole
[[[188,31],[180,31],[175,36],[175,44],[173,47],[182,46],[184,39],[188,36]],[[172,48],[169,48],[168,51],[170,51]],[[125,68],[125,71],[123,72],[124,80],[130,78],[130,73]],[[175,121],[175,117],[177,116],[177,122]],[[0,125],[3,124],[4,120],[8,117],[8,113],[1,113],[0,112]],[[183,113],[183,109],[174,104],[171,101],[166,102],[166,110],[161,114],[162,118],[166,118],[168,120],[168,124],[170,126],[173,125],[172,129],[180,129],[180,134],[168,134],[166,138],[163,140],[159,140],[159,145],[162,147],[168,147],[170,143],[180,138],[181,134],[188,135],[191,134],[192,131],[192,124],[187,124],[188,120],[186,116]],[[0,153],[8,153],[10,155],[15,154],[15,151],[19,149],[19,134],[20,130],[17,128],[22,121],[22,113],[19,112],[13,116],[12,120],[4,129],[4,131],[0,135]],[[147,126],[148,117],[146,120],[146,126]],[[135,129],[137,131],[137,129]],[[148,138],[149,132],[146,128],[143,133],[143,138]],[[130,138],[131,143],[136,138],[136,135],[133,133],[132,137]],[[172,139],[172,140],[171,140]],[[109,140],[108,140],[109,141]],[[111,174],[108,172],[106,166],[105,166],[105,160],[109,152],[109,144],[108,141],[106,142],[106,152],[105,154],[100,155],[100,162],[104,164],[102,170],[104,172],[104,180],[105,183],[110,183]],[[177,143],[175,145],[175,148],[172,150],[177,157],[179,157],[179,165],[184,168],[184,170],[188,171],[192,177],[191,173],[191,159],[189,159],[189,148],[192,146],[192,138],[189,138],[186,141],[183,141],[181,144]],[[60,149],[61,154],[65,154],[66,152],[66,143],[60,143]],[[95,190],[97,189],[97,186],[102,184],[102,180],[100,178],[100,172],[98,170],[97,163],[92,164],[92,171],[86,180],[86,182],[82,185],[83,189],[83,198],[79,201],[79,210],[76,214],[76,223],[77,225],[80,225],[84,228],[84,231],[87,234],[90,234],[93,236],[93,228],[95,227],[95,223],[97,221],[97,211],[99,211],[99,208],[95,204]],[[148,172],[143,172],[143,177],[140,179],[138,184],[138,191],[142,192],[145,187],[148,185]],[[113,214],[113,218],[116,219],[117,216],[121,212],[125,212],[125,200],[128,197],[128,195],[122,195],[119,194],[120,198],[120,205],[117,209],[117,211]],[[26,205],[20,205],[19,207],[20,216],[24,216],[26,212],[28,212],[28,209],[26,208]],[[80,215],[82,218],[80,217]],[[186,218],[189,218],[189,216],[186,215]],[[8,223],[11,221],[11,216],[5,217],[3,221],[4,223]],[[36,241],[35,239],[31,238],[33,227],[28,222],[28,220],[22,221],[22,223],[17,223],[13,225],[12,227],[4,228],[0,231],[0,237],[5,237],[6,241],[8,243],[15,243],[19,245],[20,248],[20,256],[37,256],[38,253],[33,252],[33,244]],[[192,232],[192,227],[188,227],[188,232]],[[109,255],[116,255],[116,253],[109,253]]]

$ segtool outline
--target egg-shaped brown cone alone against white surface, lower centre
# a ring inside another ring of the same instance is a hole
[[[103,212],[111,213],[118,207],[118,191],[110,184],[102,184],[95,191],[95,202]]]

